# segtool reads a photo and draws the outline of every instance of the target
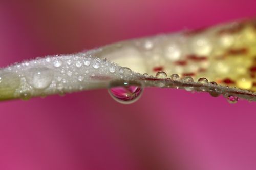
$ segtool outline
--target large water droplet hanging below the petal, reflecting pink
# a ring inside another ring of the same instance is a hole
[[[143,88],[136,81],[114,81],[109,84],[108,91],[117,102],[131,104],[140,98]]]

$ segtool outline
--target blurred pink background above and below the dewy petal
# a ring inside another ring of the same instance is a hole
[[[255,16],[254,0],[0,2],[0,66]],[[0,103],[0,169],[256,169],[255,103],[145,89]]]

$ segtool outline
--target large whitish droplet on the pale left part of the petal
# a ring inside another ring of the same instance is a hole
[[[53,79],[53,71],[49,68],[31,68],[26,76],[27,82],[36,89],[47,88]]]

